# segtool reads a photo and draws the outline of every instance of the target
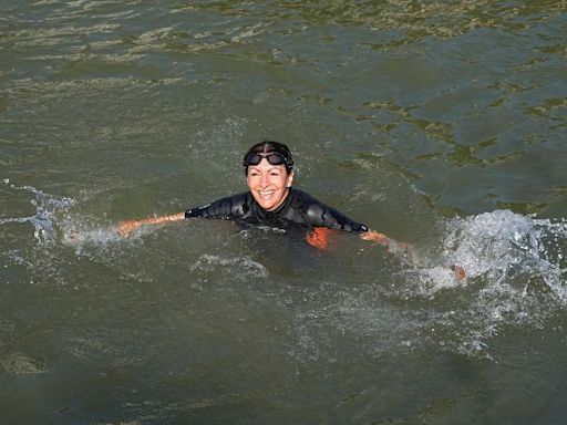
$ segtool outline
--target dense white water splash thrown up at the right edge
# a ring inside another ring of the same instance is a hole
[[[512,287],[526,278],[540,278],[561,302],[567,302],[560,263],[567,241],[565,222],[498,210],[454,220],[449,231],[445,261],[462,266],[470,277],[486,276],[493,286]]]

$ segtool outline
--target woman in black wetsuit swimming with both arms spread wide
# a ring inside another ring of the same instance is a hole
[[[370,230],[365,225],[292,187],[293,159],[285,144],[271,141],[258,143],[248,149],[243,165],[248,191],[190,208],[185,212],[126,221],[118,227],[118,232],[127,236],[143,225],[184,218],[220,218],[282,228],[292,224],[301,225],[309,229],[307,241],[320,249],[327,248],[331,229],[358,234],[362,239],[379,242],[386,248],[396,245],[406,250],[406,245],[395,243],[385,235]]]

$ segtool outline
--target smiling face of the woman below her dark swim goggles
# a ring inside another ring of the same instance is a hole
[[[271,165],[262,158],[258,165],[248,166],[246,180],[260,207],[274,211],[286,200],[293,183],[293,170],[288,174],[285,165]]]

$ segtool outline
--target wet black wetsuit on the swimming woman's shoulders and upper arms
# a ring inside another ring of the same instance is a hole
[[[327,227],[355,234],[368,231],[368,227],[351,220],[302,190],[290,188],[289,194],[276,210],[267,211],[254,199],[250,191],[215,200],[198,208],[187,209],[185,218],[237,219],[254,225],[287,227],[299,224],[306,227]]]

